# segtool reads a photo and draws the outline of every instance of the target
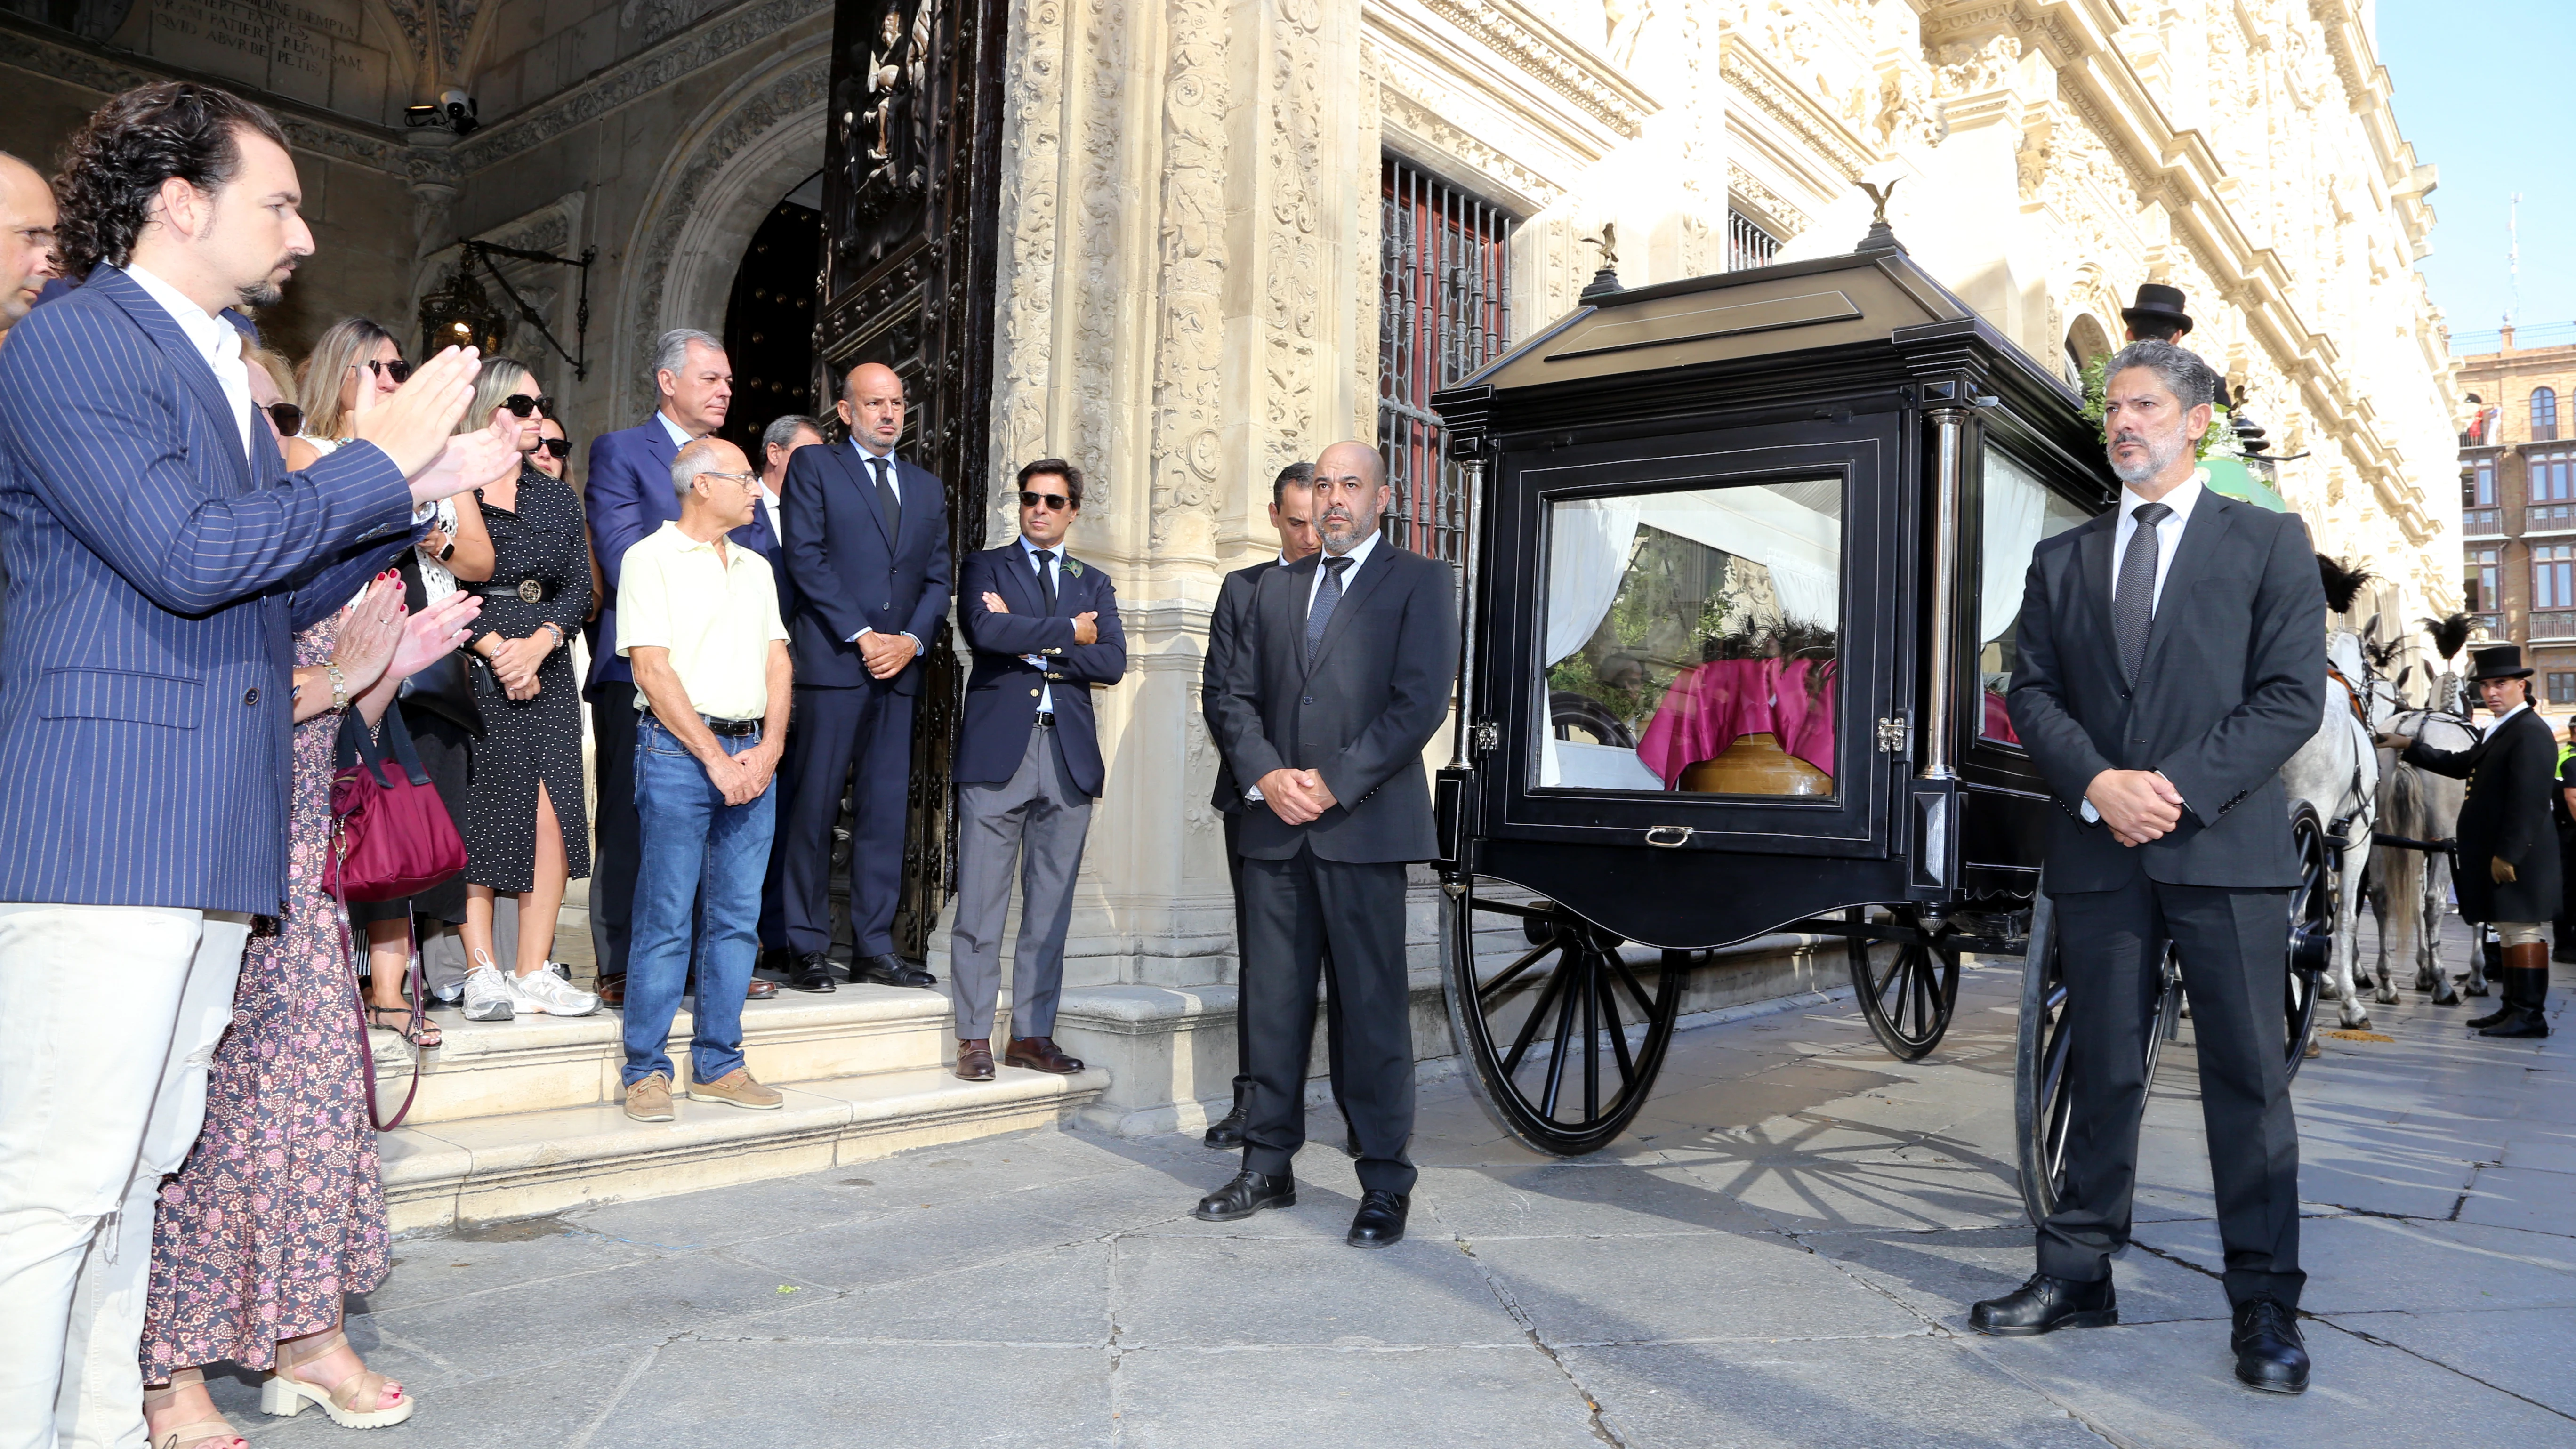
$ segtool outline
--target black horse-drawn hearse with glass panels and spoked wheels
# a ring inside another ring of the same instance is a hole
[[[1844,938],[1909,1060],[1950,1024],[1960,951],[2027,954],[2045,1207],[2056,807],[2004,683],[2032,544],[2115,498],[2081,397],[1880,224],[1852,255],[1605,276],[1432,405],[1473,505],[1443,951],[1494,1116],[1548,1152],[1615,1137],[1716,946]],[[2300,892],[2293,964],[2318,908]],[[2293,1052],[2311,985],[2290,972]]]

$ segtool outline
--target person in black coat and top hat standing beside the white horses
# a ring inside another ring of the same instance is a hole
[[[2470,1026],[2481,1036],[2548,1036],[2548,923],[2566,900],[2550,825],[2558,745],[2548,722],[2532,714],[2532,670],[2519,645],[2488,645],[2470,660],[2468,683],[2496,717],[2483,740],[2465,750],[2434,750],[2403,735],[2380,743],[2406,750],[2411,766],[2468,781],[2458,828],[2460,915],[2491,926],[2504,949],[2504,1003]]]

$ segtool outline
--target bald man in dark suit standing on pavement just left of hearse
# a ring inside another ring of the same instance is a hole
[[[1226,670],[1218,748],[1244,797],[1244,959],[1252,1104],[1244,1171],[1198,1204],[1234,1222],[1296,1201],[1316,977],[1342,1000],[1342,1109],[1360,1140],[1352,1248],[1404,1238],[1414,1165],[1414,1036],[1404,980],[1404,866],[1427,861],[1422,745],[1458,673],[1450,570],[1378,531],[1386,459],[1334,443],[1314,464],[1324,552],[1252,590]]]

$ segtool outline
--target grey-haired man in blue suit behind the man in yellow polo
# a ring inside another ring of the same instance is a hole
[[[670,490],[670,462],[680,449],[724,425],[734,402],[734,366],[724,343],[693,327],[672,327],[654,343],[652,361],[659,405],[634,428],[600,433],[590,441],[590,474],[582,480],[582,511],[590,516],[590,557],[600,565],[608,593],[590,621],[590,740],[598,750],[598,825],[590,835],[590,949],[600,967],[600,1000],[626,1000],[626,946],[636,900],[636,691],[634,670],[618,652],[618,578],[626,549],[662,523],[680,518],[680,498]],[[726,534],[760,557],[778,562],[778,536],[768,513]],[[760,982],[755,982],[757,987]]]

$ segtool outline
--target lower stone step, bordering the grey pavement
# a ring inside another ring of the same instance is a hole
[[[559,1106],[397,1127],[376,1140],[394,1232],[817,1173],[1051,1127],[1095,1101],[1108,1073],[1002,1067],[989,1083],[961,1083],[945,1067],[914,1067],[773,1085],[786,1093],[778,1111],[677,1098],[675,1122],[631,1122],[623,1106]]]

